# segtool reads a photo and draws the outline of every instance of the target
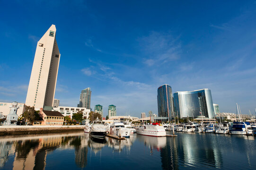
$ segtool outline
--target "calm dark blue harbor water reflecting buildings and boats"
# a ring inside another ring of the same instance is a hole
[[[256,138],[177,133],[126,140],[66,133],[0,137],[0,170],[256,169]]]

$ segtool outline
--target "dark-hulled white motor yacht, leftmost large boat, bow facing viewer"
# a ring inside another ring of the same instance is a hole
[[[101,120],[93,121],[89,135],[98,139],[105,139],[107,129]]]

